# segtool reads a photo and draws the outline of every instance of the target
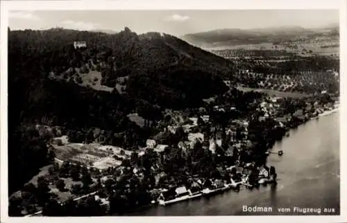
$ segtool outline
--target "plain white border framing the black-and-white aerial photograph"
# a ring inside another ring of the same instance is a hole
[[[10,10],[238,10],[238,9],[339,9],[340,17],[340,215],[335,216],[206,216],[206,217],[8,217],[8,12]],[[346,100],[347,71],[346,0],[98,0],[98,1],[1,1],[1,222],[347,222]],[[343,148],[343,149],[341,149]]]

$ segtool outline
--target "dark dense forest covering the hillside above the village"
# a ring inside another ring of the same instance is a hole
[[[87,47],[75,49],[74,41],[80,40]],[[90,62],[101,65],[101,82],[112,92],[49,78]],[[111,138],[123,133],[131,136],[124,140],[144,141],[151,130],[141,129],[127,114],[137,111],[158,121],[164,108],[199,106],[203,98],[227,90],[220,75],[231,71],[232,62],[171,35],[137,35],[128,28],[112,35],[61,28],[8,30],[9,193],[51,160],[46,137],[24,124],[62,126],[70,134],[98,127]],[[119,93],[115,80],[123,76],[128,83]],[[124,140],[109,141],[130,144]]]

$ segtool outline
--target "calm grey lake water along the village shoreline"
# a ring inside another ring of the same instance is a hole
[[[339,112],[309,121],[289,134],[273,147],[273,151],[283,150],[283,156],[271,154],[268,160],[268,164],[275,166],[278,172],[276,187],[242,188],[239,193],[228,190],[210,198],[201,197],[170,206],[151,206],[131,215],[302,214],[294,212],[294,207],[321,208],[321,215],[339,215]],[[250,213],[243,211],[242,206],[269,206],[272,212]],[[280,213],[278,208],[290,210]]]

